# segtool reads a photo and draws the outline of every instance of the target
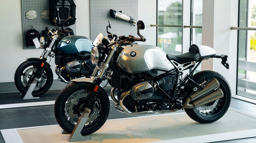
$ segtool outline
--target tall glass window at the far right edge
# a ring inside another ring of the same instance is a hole
[[[239,1],[239,27],[256,28],[256,1]],[[256,31],[238,31],[237,94],[256,99]]]

